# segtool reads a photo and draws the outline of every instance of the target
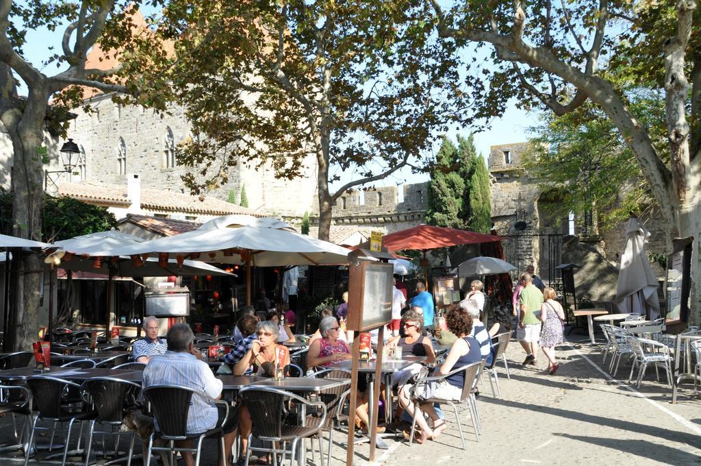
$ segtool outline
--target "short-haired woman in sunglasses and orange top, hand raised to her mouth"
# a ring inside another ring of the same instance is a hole
[[[255,366],[257,375],[273,377],[275,369],[283,367],[287,374],[290,366],[290,351],[283,345],[276,345],[280,329],[273,321],[259,322],[254,340],[243,358],[233,366],[233,375],[243,375],[250,366]],[[238,425],[241,435],[243,452],[248,448],[248,434],[251,433],[251,415],[245,404],[238,410]]]

